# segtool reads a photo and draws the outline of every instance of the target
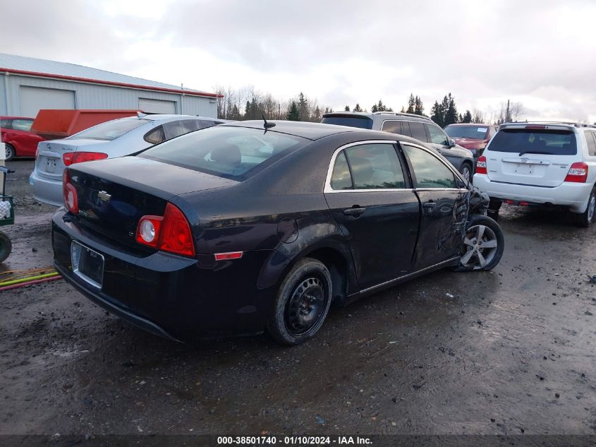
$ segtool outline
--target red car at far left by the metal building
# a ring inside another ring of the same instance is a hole
[[[6,160],[35,157],[37,143],[45,138],[30,131],[33,118],[0,117],[1,141],[6,145]]]

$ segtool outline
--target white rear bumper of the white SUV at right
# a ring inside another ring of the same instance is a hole
[[[490,181],[485,174],[475,174],[473,184],[490,198],[525,201],[542,205],[561,205],[573,213],[583,213],[588,206],[590,191],[594,187],[586,183],[563,183],[554,188]]]

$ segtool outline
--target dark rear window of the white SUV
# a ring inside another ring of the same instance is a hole
[[[573,131],[503,129],[492,138],[489,150],[523,154],[576,155]]]

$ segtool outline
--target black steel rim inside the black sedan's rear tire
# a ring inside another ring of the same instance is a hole
[[[296,282],[284,313],[291,335],[308,334],[320,323],[329,301],[327,290],[327,280],[315,273],[308,273]]]

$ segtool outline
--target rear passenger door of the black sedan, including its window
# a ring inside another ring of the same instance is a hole
[[[402,165],[388,141],[346,145],[332,159],[324,195],[363,289],[412,269],[420,203]]]

